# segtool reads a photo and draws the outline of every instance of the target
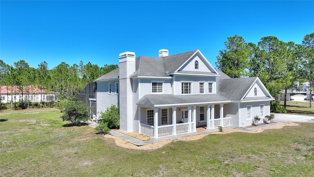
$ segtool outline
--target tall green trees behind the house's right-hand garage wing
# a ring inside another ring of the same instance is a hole
[[[302,44],[283,42],[275,36],[262,37],[257,44],[237,35],[227,39],[217,56],[218,70],[232,78],[259,77],[273,97],[285,90],[285,107],[287,90],[298,89],[296,81],[309,82],[312,108],[314,32],[305,35]]]

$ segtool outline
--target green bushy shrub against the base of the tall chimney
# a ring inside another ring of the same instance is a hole
[[[101,112],[102,121],[107,123],[108,128],[119,128],[120,117],[119,117],[119,108],[115,105],[111,105],[110,108],[107,108],[105,113]]]

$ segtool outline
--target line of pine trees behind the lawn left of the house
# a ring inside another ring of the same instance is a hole
[[[26,86],[38,87],[45,92],[54,92],[58,101],[65,98],[73,100],[88,82],[94,81],[117,67],[117,64],[105,64],[99,67],[97,64],[90,62],[84,64],[80,61],[79,64],[72,66],[61,62],[52,69],[48,69],[46,61],[38,64],[38,68],[33,68],[29,67],[25,60],[14,62],[13,66],[0,60],[0,87],[16,86],[19,92],[22,92],[20,102],[30,102],[30,100],[23,100],[23,94],[26,94],[23,93],[25,90],[23,88]]]

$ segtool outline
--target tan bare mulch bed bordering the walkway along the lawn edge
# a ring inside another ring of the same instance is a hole
[[[200,134],[200,135],[195,135],[195,136],[190,136],[190,137],[177,138],[177,139],[174,139],[174,140],[166,140],[166,141],[162,141],[162,142],[158,142],[158,143],[152,143],[152,144],[144,145],[144,146],[136,146],[134,144],[131,144],[128,141],[122,140],[122,139],[120,139],[118,137],[115,137],[115,136],[112,136],[112,135],[109,135],[109,134],[104,135],[104,137],[105,138],[109,138],[109,139],[113,139],[114,142],[115,142],[115,145],[120,147],[120,148],[128,148],[128,149],[134,149],[134,150],[152,150],[152,149],[161,148],[161,147],[165,146],[166,144],[168,144],[170,142],[173,142],[173,141],[194,141],[194,140],[199,140],[199,139],[202,139],[202,138],[204,138],[205,136],[207,136],[209,134],[227,134],[227,133],[234,133],[234,132],[261,133],[261,132],[263,132],[266,129],[279,129],[279,128],[283,128],[284,126],[297,126],[297,125],[299,125],[297,123],[286,122],[286,121],[285,121],[285,123],[286,124],[284,124],[284,125],[276,125],[276,126],[272,126],[272,127],[265,127],[265,128],[260,128],[258,130],[252,130],[252,131],[239,130],[239,129],[229,129],[229,130],[224,130],[222,132],[217,131],[217,132],[205,133],[205,134]],[[119,132],[123,133],[122,131],[119,131]],[[134,133],[134,132],[132,132],[132,134],[133,134],[132,137],[134,137],[134,138],[135,137],[141,137],[141,134]],[[138,135],[135,135],[135,134],[138,134]]]

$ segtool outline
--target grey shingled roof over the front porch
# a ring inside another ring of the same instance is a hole
[[[173,95],[173,94],[147,94],[144,95],[137,105],[158,107],[158,106],[182,106],[211,103],[231,102],[221,94],[191,94],[191,95]]]

